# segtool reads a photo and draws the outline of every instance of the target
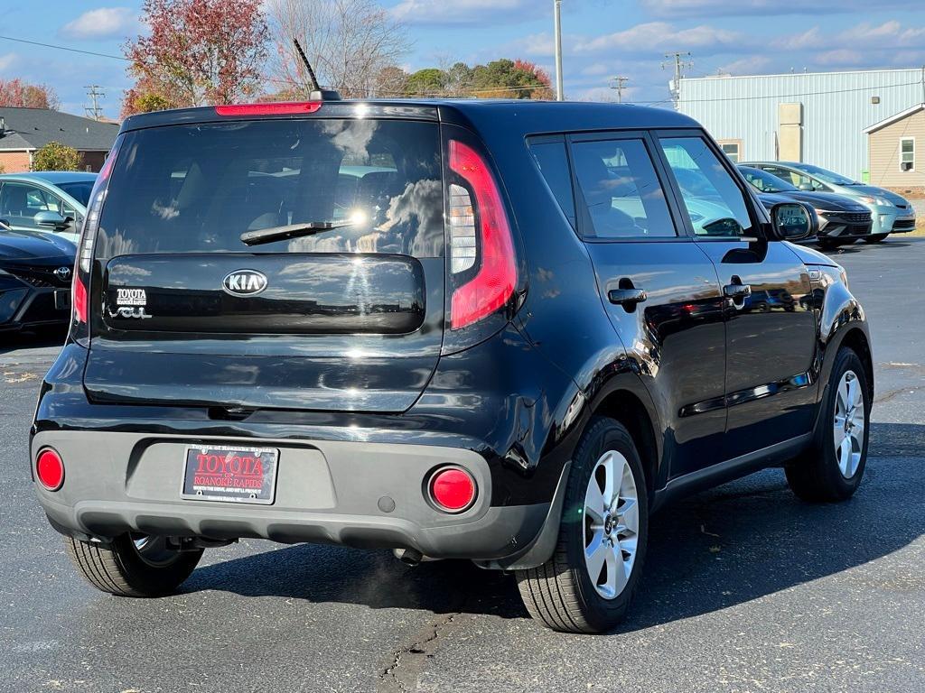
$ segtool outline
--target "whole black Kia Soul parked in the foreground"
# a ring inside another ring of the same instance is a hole
[[[666,110],[133,116],[39,398],[39,499],[118,595],[309,541],[509,570],[545,625],[609,629],[670,499],[770,466],[857,489],[868,328],[806,234]]]

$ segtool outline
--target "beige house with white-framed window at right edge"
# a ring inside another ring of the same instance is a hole
[[[925,103],[865,128],[870,185],[925,192]]]

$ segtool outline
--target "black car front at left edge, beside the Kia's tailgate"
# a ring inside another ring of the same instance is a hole
[[[0,332],[68,324],[76,251],[64,238],[0,222]]]

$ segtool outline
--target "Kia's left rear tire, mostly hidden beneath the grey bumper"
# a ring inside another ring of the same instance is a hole
[[[175,551],[164,560],[147,560],[129,534],[105,546],[65,538],[68,555],[87,582],[117,597],[163,597],[190,577],[203,550]]]

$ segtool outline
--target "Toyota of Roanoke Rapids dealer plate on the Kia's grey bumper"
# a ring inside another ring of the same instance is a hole
[[[279,451],[272,447],[190,446],[180,497],[270,505],[276,496],[278,462]]]

